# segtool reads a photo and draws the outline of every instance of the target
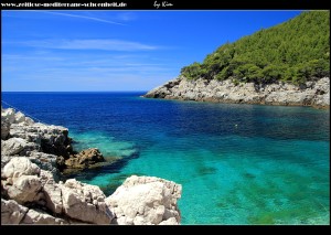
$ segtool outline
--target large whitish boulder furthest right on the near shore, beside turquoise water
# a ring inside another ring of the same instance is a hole
[[[132,175],[106,199],[106,203],[115,212],[115,224],[179,224],[177,201],[181,191],[182,186],[172,181]]]

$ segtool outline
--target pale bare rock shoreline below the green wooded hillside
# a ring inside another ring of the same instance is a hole
[[[234,104],[312,106],[328,109],[330,108],[330,78],[323,77],[296,86],[286,83],[236,84],[232,79],[207,81],[200,78],[190,81],[180,76],[148,92],[143,97]]]

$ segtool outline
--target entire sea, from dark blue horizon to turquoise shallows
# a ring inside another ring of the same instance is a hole
[[[75,175],[106,194],[131,174],[182,184],[182,224],[330,224],[330,110],[142,94],[2,93],[2,100],[67,127],[75,150],[120,157]]]

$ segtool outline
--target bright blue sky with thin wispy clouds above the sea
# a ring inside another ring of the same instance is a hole
[[[300,11],[2,11],[3,92],[148,90]]]

